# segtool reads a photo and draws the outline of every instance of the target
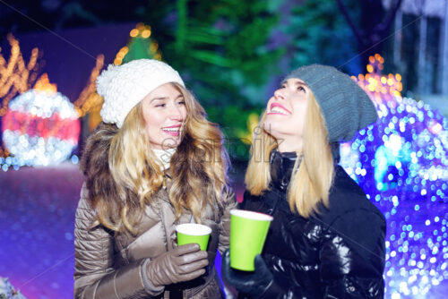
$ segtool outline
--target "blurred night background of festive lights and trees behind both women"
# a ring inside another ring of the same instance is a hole
[[[385,297],[448,294],[448,1],[0,0],[0,20],[0,294],[73,297],[95,79],[139,58],[177,69],[220,124],[238,200],[282,78],[314,63],[349,73],[380,115],[340,164],[387,219]]]

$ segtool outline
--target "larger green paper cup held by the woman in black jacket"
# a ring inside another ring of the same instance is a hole
[[[254,271],[255,255],[262,253],[272,219],[249,210],[230,210],[230,267]]]

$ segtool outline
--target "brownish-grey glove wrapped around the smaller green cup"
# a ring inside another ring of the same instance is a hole
[[[153,286],[168,286],[200,277],[208,264],[207,252],[191,243],[159,255],[147,264],[146,273]]]

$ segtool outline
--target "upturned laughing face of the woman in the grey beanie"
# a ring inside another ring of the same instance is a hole
[[[263,129],[277,139],[280,152],[302,150],[310,92],[304,81],[291,78],[269,99]]]

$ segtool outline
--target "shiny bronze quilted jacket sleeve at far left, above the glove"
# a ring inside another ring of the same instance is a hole
[[[151,287],[142,269],[149,261],[141,260],[118,269],[114,265],[114,239],[102,226],[90,228],[95,212],[82,187],[74,228],[74,298],[148,298],[163,289]]]

